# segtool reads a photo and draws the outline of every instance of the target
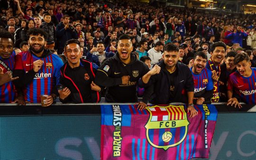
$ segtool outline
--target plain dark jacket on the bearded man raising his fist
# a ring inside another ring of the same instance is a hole
[[[159,63],[161,71],[150,78],[147,84],[139,80],[140,87],[147,87],[151,97],[148,97],[151,104],[169,104],[172,102],[187,103],[187,92],[194,92],[194,81],[190,69],[183,63],[176,64],[177,75],[174,78],[174,98],[170,99],[170,74],[164,61]]]

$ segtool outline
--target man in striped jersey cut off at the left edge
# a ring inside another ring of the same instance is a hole
[[[12,80],[14,69],[15,52],[13,50],[13,36],[0,30],[0,103],[10,103],[14,101],[15,89]]]

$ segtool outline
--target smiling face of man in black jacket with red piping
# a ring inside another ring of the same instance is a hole
[[[64,55],[66,56],[68,64],[71,68],[78,67],[80,65],[80,57],[82,56],[82,52],[78,44],[68,44],[65,47]]]

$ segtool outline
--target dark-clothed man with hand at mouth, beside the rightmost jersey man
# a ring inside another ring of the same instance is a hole
[[[225,62],[220,65],[220,76],[219,76],[219,91],[220,91],[220,101],[227,102],[227,83],[229,75],[236,71],[236,65],[234,64],[234,59],[236,52],[230,51],[226,57]]]

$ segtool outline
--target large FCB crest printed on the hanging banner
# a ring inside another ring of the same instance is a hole
[[[145,125],[146,138],[152,146],[167,150],[183,142],[189,125],[184,106],[152,106],[146,109],[150,113]]]

